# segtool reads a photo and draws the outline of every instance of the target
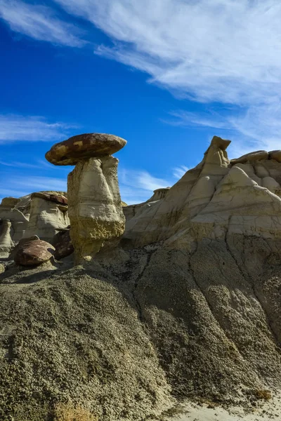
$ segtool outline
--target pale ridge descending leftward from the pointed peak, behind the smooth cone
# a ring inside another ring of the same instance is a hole
[[[134,215],[129,215],[126,222],[124,240],[130,241],[132,245],[143,246],[167,239],[181,229],[186,231],[192,216],[206,206],[216,185],[230,169],[226,152],[229,144],[230,140],[214,136],[204,159],[187,171],[163,199],[145,203],[141,208],[135,206]],[[200,198],[196,196],[197,192]]]

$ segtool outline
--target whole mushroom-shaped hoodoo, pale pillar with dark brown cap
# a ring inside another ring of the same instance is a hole
[[[87,133],[60,142],[46,153],[55,165],[77,163],[67,180],[70,236],[77,261],[91,258],[105,241],[124,232],[118,160],[110,154],[125,144],[126,140],[114,135]]]

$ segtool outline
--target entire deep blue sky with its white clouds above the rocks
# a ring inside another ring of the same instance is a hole
[[[213,135],[230,157],[281,149],[275,0],[0,0],[0,199],[66,189],[53,143],[128,144],[122,199],[174,184]]]

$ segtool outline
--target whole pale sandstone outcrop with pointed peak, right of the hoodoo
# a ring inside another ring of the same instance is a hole
[[[280,163],[265,151],[230,161],[229,143],[215,136],[202,162],[163,199],[150,206],[137,205],[138,212],[126,223],[124,239],[143,246],[183,234],[197,239],[234,233],[279,238]]]

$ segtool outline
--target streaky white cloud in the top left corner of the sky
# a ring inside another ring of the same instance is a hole
[[[13,31],[39,41],[72,47],[85,44],[85,41],[79,38],[77,27],[57,18],[52,9],[46,6],[27,4],[20,0],[0,0],[0,18],[4,19]]]

